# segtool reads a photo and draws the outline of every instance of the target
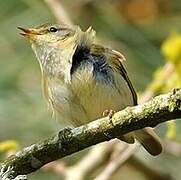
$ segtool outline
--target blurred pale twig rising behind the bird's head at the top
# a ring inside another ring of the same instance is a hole
[[[44,0],[47,6],[50,8],[52,14],[59,23],[65,23],[73,25],[69,15],[65,11],[62,3],[59,0]]]

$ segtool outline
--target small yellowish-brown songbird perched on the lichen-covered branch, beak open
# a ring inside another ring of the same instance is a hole
[[[79,26],[44,24],[22,28],[36,54],[42,73],[44,96],[59,119],[80,126],[127,106],[137,105],[137,95],[122,64],[124,56],[95,43],[95,31]],[[151,128],[126,134],[152,155],[162,145]]]

